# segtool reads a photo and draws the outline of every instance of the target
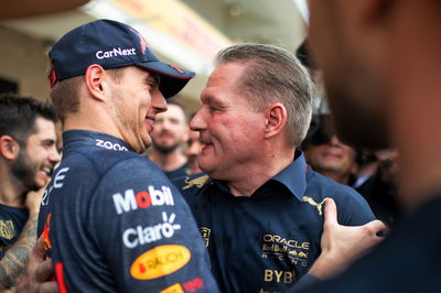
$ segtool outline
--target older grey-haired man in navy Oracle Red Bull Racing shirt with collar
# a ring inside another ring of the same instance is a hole
[[[312,85],[290,53],[240,44],[222,51],[190,122],[201,133],[208,176],[181,186],[223,292],[280,292],[320,254],[322,205],[336,200],[340,223],[372,219],[352,188],[311,171],[301,152]]]

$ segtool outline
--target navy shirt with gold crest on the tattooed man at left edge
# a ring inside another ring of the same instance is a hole
[[[0,205],[0,259],[17,241],[28,218],[26,208]]]

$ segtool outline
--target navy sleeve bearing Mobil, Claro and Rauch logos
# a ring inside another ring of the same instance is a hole
[[[190,208],[162,171],[130,159],[101,180],[89,231],[120,292],[217,292]]]

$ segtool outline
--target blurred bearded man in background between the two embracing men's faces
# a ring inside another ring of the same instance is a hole
[[[149,159],[170,178],[189,174],[187,159],[182,145],[189,140],[184,109],[175,101],[168,102],[168,109],[158,113],[151,133],[152,149]]]

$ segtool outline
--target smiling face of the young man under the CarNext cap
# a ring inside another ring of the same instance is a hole
[[[120,137],[140,153],[151,144],[157,113],[166,110],[159,83],[157,75],[129,66],[111,84],[114,122]]]

